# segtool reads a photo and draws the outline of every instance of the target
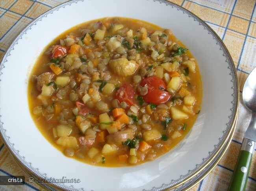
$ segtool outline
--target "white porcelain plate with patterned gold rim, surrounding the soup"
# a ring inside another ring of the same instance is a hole
[[[63,31],[107,16],[137,18],[171,29],[197,59],[202,77],[202,109],[186,138],[155,161],[134,167],[96,167],[65,157],[41,135],[28,110],[28,76],[39,53]],[[226,47],[186,9],[165,0],[75,0],[39,16],[6,51],[0,65],[0,132],[13,156],[33,176],[80,179],[75,184],[52,184],[59,189],[182,190],[207,173],[201,171],[214,165],[225,150],[238,96],[236,71]]]

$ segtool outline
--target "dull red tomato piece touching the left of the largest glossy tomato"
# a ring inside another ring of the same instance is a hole
[[[129,84],[124,84],[115,93],[115,99],[119,100],[120,103],[126,102],[129,107],[134,105],[134,96],[135,89]]]

